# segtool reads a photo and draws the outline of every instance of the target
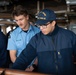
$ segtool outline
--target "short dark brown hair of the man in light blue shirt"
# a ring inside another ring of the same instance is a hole
[[[19,16],[19,15],[24,15],[24,16],[28,15],[28,12],[27,12],[26,8],[22,5],[16,6],[15,9],[13,10],[13,12],[12,12],[12,17]]]

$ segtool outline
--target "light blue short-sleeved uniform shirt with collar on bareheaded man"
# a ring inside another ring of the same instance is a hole
[[[17,50],[16,55],[18,57],[22,50],[26,48],[26,45],[30,39],[38,32],[40,32],[40,29],[33,25],[30,25],[27,33],[24,32],[20,27],[17,27],[13,32],[10,33],[7,50]]]

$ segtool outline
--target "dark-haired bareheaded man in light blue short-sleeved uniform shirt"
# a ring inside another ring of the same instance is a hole
[[[12,17],[18,27],[10,33],[7,50],[9,50],[11,61],[14,63],[30,39],[40,30],[30,25],[29,14],[25,7],[21,5],[15,8],[12,12]]]

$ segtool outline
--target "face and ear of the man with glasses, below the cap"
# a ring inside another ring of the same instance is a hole
[[[54,28],[55,28],[55,21],[52,21],[51,23],[48,22],[47,24],[45,25],[41,25],[39,26],[41,32],[44,34],[44,35],[47,35],[49,33],[51,33]]]

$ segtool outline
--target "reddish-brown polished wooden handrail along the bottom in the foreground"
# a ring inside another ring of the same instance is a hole
[[[4,74],[1,74],[2,72],[4,72]],[[0,75],[48,75],[48,74],[0,68]]]

